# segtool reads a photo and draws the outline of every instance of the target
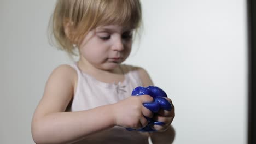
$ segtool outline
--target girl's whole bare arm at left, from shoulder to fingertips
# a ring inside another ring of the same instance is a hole
[[[142,105],[145,101],[153,101],[148,95],[95,109],[65,112],[73,97],[76,80],[76,71],[68,65],[61,65],[50,75],[32,119],[32,136],[36,143],[68,143],[114,125],[137,128],[147,124],[147,120],[141,117],[150,116],[150,111]],[[120,107],[127,107],[127,111],[119,111]],[[131,107],[137,113],[127,113]],[[126,117],[127,122],[122,119]]]

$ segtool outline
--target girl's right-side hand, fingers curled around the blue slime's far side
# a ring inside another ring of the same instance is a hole
[[[171,105],[172,105],[172,110],[171,111],[167,111],[167,110],[163,110],[160,109],[157,113],[157,115],[154,115],[154,117],[152,119],[154,119],[155,121],[158,122],[164,122],[164,125],[152,125],[152,129],[155,129],[157,131],[165,131],[168,129],[168,127],[170,127],[173,118],[175,117],[175,110],[174,110],[174,105],[172,104],[171,99],[169,98],[165,98],[167,99]]]

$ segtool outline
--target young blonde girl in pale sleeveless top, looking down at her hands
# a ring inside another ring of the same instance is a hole
[[[174,109],[153,117],[143,106],[152,97],[130,97],[133,88],[153,85],[149,75],[121,64],[140,23],[139,0],[57,1],[54,37],[68,53],[78,47],[79,61],[51,73],[32,120],[36,143],[148,143],[149,136],[153,143],[172,143]],[[154,133],[125,129],[145,127],[144,116],[165,125],[153,125]]]

